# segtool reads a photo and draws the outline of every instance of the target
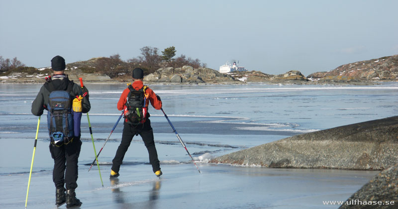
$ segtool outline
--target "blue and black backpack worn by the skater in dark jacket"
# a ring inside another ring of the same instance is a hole
[[[74,136],[72,115],[73,82],[67,80],[65,91],[56,91],[52,82],[47,83],[50,96],[47,104],[47,127],[51,142],[57,146],[67,144]]]

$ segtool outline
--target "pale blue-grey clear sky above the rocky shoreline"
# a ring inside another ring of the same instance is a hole
[[[0,0],[0,56],[48,67],[140,48],[304,76],[398,54],[397,0]]]

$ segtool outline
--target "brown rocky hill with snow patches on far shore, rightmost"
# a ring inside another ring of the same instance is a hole
[[[339,66],[328,72],[317,72],[307,76],[315,81],[397,81],[398,55],[381,57]]]

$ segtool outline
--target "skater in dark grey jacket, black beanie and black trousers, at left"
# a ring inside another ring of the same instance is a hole
[[[64,73],[65,59],[61,56],[55,56],[51,60],[51,68],[54,75],[49,77],[50,79],[46,79],[47,82],[40,88],[36,99],[32,103],[31,112],[36,116],[40,116],[43,114],[44,109],[48,110],[49,96],[54,91],[69,92],[71,98],[70,106],[72,106],[72,100],[76,96],[82,96],[84,93],[87,93],[82,100],[82,112],[88,112],[91,108],[89,91],[86,87],[81,88],[68,79],[68,76]],[[50,114],[50,111],[47,114]],[[50,133],[50,127],[48,128]],[[80,133],[78,133],[78,136],[68,137],[68,141],[64,141],[61,144],[55,143],[51,136],[50,141],[50,153],[54,159],[53,182],[56,187],[55,205],[58,207],[66,203],[67,208],[80,207],[82,203],[76,198],[75,193],[75,189],[78,187],[76,183],[78,179],[78,158],[82,146]]]

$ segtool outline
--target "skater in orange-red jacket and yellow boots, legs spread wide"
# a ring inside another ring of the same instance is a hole
[[[126,88],[120,96],[119,102],[117,103],[117,109],[123,110],[125,112],[125,120],[124,120],[124,127],[123,133],[121,137],[121,142],[119,147],[116,150],[115,157],[112,160],[112,168],[110,171],[109,178],[117,178],[119,176],[119,169],[120,165],[122,164],[124,155],[128,147],[130,146],[131,140],[133,139],[134,135],[140,135],[142,140],[145,143],[145,147],[148,150],[149,154],[149,162],[152,165],[152,170],[156,176],[161,176],[162,171],[160,170],[158,153],[155,147],[155,141],[153,138],[153,130],[151,127],[151,121],[149,120],[149,113],[147,112],[149,103],[155,109],[162,108],[162,101],[160,97],[157,96],[150,88],[144,86],[142,80],[144,78],[144,72],[141,68],[135,68],[133,70],[133,83]],[[140,98],[140,93],[143,95],[143,98]],[[143,93],[143,94],[142,94]],[[134,95],[136,96],[134,98]],[[135,100],[134,100],[135,99]],[[138,102],[141,103],[141,107],[137,108],[137,112],[135,112],[136,107],[131,108],[132,103],[134,101],[144,101]],[[133,111],[131,111],[133,109]],[[134,123],[132,121],[131,115],[139,115],[139,122]]]

